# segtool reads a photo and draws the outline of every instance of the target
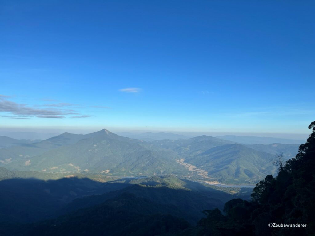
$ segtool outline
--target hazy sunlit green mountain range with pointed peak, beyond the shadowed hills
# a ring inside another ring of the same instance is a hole
[[[289,146],[288,146],[289,145]],[[0,166],[49,174],[101,176],[174,174],[209,183],[253,184],[275,174],[275,154],[285,158],[296,145],[243,145],[211,136],[146,142],[103,129],[90,134],[63,133],[36,143],[0,149]]]

